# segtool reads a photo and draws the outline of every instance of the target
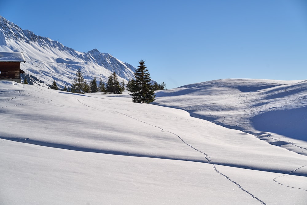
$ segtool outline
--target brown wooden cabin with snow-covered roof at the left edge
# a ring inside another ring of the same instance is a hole
[[[15,81],[21,83],[20,63],[25,62],[21,52],[0,52],[0,81]]]

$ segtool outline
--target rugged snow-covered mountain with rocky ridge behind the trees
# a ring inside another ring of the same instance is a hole
[[[0,16],[0,51],[18,51],[25,55],[26,63],[21,69],[51,85],[70,85],[81,68],[88,81],[94,77],[104,82],[115,71],[119,81],[134,78],[134,67],[124,63],[109,53],[100,53],[97,49],[82,53],[53,41],[48,37],[35,35],[32,31],[22,30],[13,22]]]

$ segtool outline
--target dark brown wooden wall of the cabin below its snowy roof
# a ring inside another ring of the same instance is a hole
[[[19,79],[20,78],[20,62],[0,62],[0,78],[3,79]]]

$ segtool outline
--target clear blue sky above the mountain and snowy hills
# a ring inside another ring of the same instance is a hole
[[[1,0],[0,15],[77,51],[143,59],[168,89],[307,79],[306,0]]]

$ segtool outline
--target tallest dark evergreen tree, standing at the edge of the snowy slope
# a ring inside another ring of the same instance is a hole
[[[132,84],[132,102],[135,103],[150,103],[155,100],[154,89],[151,85],[151,78],[145,61],[138,62],[140,65],[134,72],[135,80],[131,80]]]

